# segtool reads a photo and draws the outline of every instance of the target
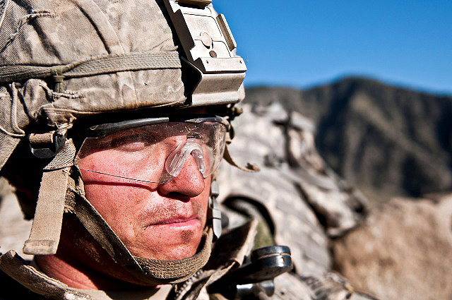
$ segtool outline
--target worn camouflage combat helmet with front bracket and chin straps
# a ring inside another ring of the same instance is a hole
[[[55,253],[66,211],[139,280],[179,282],[201,268],[210,252],[212,222],[202,250],[178,262],[177,270],[129,253],[84,197],[74,166],[81,144],[72,133],[88,123],[98,133],[149,116],[169,121],[191,107],[215,107],[229,122],[234,103],[244,97],[246,66],[235,49],[211,0],[1,1],[0,167],[2,172],[17,167],[25,150],[42,164],[31,209],[30,197],[19,191],[25,214],[34,214],[24,252]],[[198,149],[184,147],[179,157]],[[218,222],[215,212],[211,217]]]

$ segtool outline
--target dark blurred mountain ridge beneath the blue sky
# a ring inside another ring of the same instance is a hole
[[[245,102],[280,102],[311,118],[326,162],[371,199],[452,188],[452,97],[345,78],[309,90],[248,88]]]

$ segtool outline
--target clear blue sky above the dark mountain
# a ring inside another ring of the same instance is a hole
[[[363,75],[452,95],[452,0],[213,0],[245,85],[307,88]]]

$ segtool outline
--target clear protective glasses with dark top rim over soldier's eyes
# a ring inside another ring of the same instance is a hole
[[[165,184],[190,162],[190,170],[197,169],[207,178],[220,164],[229,128],[220,116],[101,124],[85,131],[74,164],[81,169],[82,178],[88,172],[85,175]]]

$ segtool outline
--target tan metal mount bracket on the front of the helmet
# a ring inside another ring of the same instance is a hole
[[[191,105],[234,103],[242,100],[246,66],[235,54],[237,44],[225,16],[211,0],[164,0],[184,49],[182,59],[201,75]]]

